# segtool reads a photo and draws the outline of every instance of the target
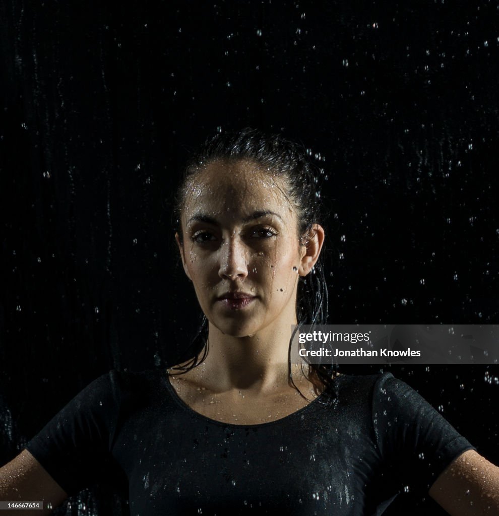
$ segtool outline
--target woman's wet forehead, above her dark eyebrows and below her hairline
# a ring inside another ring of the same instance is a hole
[[[249,215],[254,211],[292,215],[286,182],[262,165],[248,161],[216,161],[192,176],[187,185],[184,215]]]

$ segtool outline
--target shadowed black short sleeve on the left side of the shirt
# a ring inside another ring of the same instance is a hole
[[[119,373],[111,370],[77,394],[26,449],[73,495],[92,485],[110,462],[120,406]]]

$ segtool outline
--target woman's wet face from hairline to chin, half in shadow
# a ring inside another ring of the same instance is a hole
[[[298,276],[308,270],[285,186],[242,161],[210,163],[189,184],[177,240],[201,308],[223,333],[296,324]]]

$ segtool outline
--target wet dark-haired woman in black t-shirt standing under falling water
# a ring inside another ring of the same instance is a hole
[[[381,514],[404,486],[498,514],[499,469],[404,382],[289,364],[291,326],[325,322],[317,199],[296,144],[209,140],[178,195],[206,316],[188,360],[92,382],[0,470],[1,498],[56,506],[109,460],[141,516]]]

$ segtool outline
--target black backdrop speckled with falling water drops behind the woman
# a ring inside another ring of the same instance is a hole
[[[497,322],[498,14],[2,2],[0,463],[95,377],[185,345],[171,194],[217,131],[281,132],[323,169],[331,322]],[[497,365],[391,370],[499,463]],[[121,514],[99,487],[73,501]]]

